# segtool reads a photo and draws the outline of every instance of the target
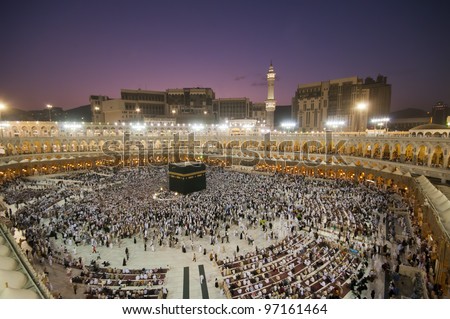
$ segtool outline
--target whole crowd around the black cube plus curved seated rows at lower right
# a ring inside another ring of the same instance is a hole
[[[167,190],[165,167],[100,169],[58,179],[3,185],[5,202],[17,203],[9,217],[24,232],[27,255],[37,260],[86,270],[89,261],[76,257],[79,245],[113,249],[124,239],[144,241],[149,251],[198,250],[219,265],[232,298],[342,297],[345,288],[360,296],[375,272],[398,273],[401,264],[428,271],[429,245],[416,236],[417,225],[388,214],[389,207],[409,213],[410,207],[370,183],[209,167],[206,190],[175,196]],[[239,247],[232,256],[194,247],[199,238],[211,247],[230,237],[254,245],[248,230],[255,228],[266,245],[255,245],[250,255]],[[405,240],[397,240],[397,228]],[[369,262],[379,254],[389,259]],[[128,257],[112,268],[126,268]]]

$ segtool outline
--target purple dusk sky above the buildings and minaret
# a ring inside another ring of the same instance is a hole
[[[450,104],[447,1],[2,1],[0,101],[69,109],[120,89],[211,87],[278,105],[298,84],[382,74],[391,110]]]

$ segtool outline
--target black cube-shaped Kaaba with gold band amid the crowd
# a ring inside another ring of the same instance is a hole
[[[169,189],[190,194],[206,188],[206,165],[200,162],[169,164]]]

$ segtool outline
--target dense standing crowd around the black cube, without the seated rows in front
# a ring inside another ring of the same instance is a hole
[[[83,261],[72,258],[67,246],[120,247],[124,238],[139,236],[153,251],[162,245],[186,251],[186,236],[207,238],[214,245],[228,240],[232,226],[233,235],[249,244],[251,227],[261,227],[275,240],[303,230],[320,241],[320,230],[336,243],[366,254],[380,250],[377,238],[392,204],[390,194],[373,184],[237,173],[220,167],[208,168],[206,190],[186,196],[172,193],[170,200],[153,196],[168,193],[166,167],[104,169],[58,178],[71,183],[16,180],[2,193],[8,202],[26,202],[10,217],[32,248],[27,253],[68,267],[82,267]],[[273,227],[275,221],[280,227]],[[325,246],[332,258],[339,257],[337,248]]]

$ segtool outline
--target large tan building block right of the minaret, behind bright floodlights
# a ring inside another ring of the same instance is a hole
[[[292,117],[302,131],[365,131],[371,118],[389,114],[390,99],[391,86],[383,76],[301,84],[292,99]]]

